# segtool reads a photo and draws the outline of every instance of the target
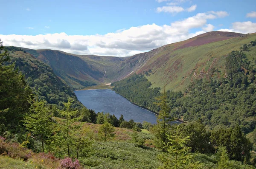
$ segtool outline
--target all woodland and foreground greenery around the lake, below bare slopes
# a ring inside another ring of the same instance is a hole
[[[160,88],[150,88],[144,75],[113,83],[117,93],[158,113],[157,124],[152,125],[146,121],[125,121],[123,115],[117,119],[109,113],[88,110],[51,68],[26,51],[12,50],[21,56],[11,58],[0,42],[3,168],[256,166],[250,141],[256,138],[246,135],[256,135],[255,112],[251,108],[255,100],[255,70],[242,51],[227,56],[228,78],[195,81],[186,93],[160,93]],[[224,120],[217,121],[217,116]],[[171,125],[175,118],[182,117],[186,123]]]

